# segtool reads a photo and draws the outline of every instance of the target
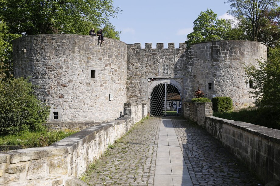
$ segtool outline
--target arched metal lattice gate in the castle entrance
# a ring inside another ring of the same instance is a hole
[[[150,96],[150,116],[181,116],[180,91],[170,83],[157,85]]]

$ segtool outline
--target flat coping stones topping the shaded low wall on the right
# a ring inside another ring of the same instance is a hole
[[[210,119],[212,121],[218,120],[222,124],[227,124],[229,126],[238,128],[240,130],[244,130],[250,134],[254,134],[256,136],[267,139],[271,142],[280,144],[280,130],[271,129],[271,128],[259,126],[259,125],[254,125],[252,123],[245,123],[242,121],[223,119],[223,118],[214,117],[214,116],[208,116],[208,119]]]

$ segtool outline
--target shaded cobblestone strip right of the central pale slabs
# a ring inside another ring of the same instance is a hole
[[[204,129],[187,120],[173,118],[172,122],[194,186],[262,185]]]

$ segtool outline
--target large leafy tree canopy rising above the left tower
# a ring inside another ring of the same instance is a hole
[[[87,35],[90,28],[107,25],[119,11],[113,0],[0,0],[0,15],[9,32],[26,35]]]

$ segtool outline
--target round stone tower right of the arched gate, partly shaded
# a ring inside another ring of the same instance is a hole
[[[229,96],[235,109],[254,105],[249,91],[254,82],[245,78],[245,66],[267,60],[267,46],[255,41],[229,40],[193,44],[187,49],[187,63],[194,92],[201,87],[205,96]],[[191,99],[190,97],[189,99]],[[186,99],[187,100],[187,99]]]

